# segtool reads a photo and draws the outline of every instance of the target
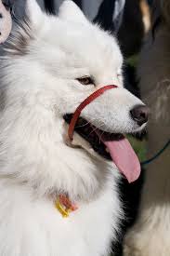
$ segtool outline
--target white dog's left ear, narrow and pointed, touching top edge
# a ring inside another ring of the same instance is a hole
[[[35,27],[43,20],[44,13],[38,6],[36,0],[27,0],[26,2],[26,16]]]

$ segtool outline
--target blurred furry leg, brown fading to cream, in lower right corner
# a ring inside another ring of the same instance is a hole
[[[124,256],[170,255],[169,154],[167,149],[146,171],[139,216],[125,236]]]

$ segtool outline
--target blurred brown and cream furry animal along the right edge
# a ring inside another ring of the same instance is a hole
[[[151,34],[147,38],[139,67],[142,97],[151,112],[148,157],[170,138],[170,1],[161,4],[162,23],[155,29],[154,39]],[[137,223],[125,237],[125,256],[170,255],[169,155],[170,148],[147,168]]]

